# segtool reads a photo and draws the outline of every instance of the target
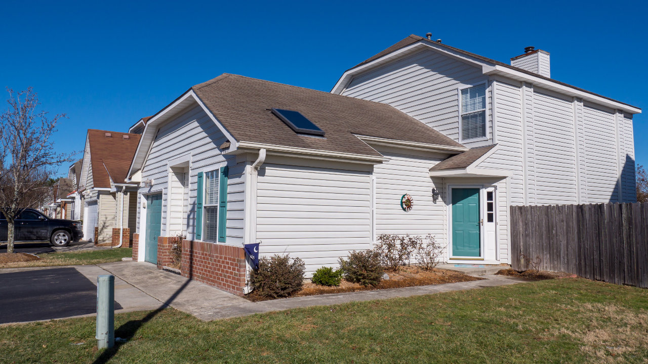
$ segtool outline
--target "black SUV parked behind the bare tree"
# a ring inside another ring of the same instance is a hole
[[[0,242],[6,242],[7,223],[0,212]],[[78,242],[82,233],[81,222],[75,220],[52,219],[38,210],[25,209],[16,218],[16,242],[47,241],[55,247],[64,247],[70,242]]]

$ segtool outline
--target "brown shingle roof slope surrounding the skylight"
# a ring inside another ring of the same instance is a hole
[[[275,82],[222,74],[192,87],[237,141],[380,156],[356,135],[462,147],[388,104]],[[325,131],[323,138],[295,133],[270,109],[299,111]]]

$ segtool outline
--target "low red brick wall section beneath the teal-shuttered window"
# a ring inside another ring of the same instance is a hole
[[[159,259],[159,251],[158,251]],[[246,278],[245,251],[231,245],[182,241],[181,275],[242,296]]]

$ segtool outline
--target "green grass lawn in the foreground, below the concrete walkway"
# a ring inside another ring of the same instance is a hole
[[[1,363],[646,363],[648,290],[545,280],[205,323],[166,309],[0,326]],[[82,343],[80,345],[75,345]]]

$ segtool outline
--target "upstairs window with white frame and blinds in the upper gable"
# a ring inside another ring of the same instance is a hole
[[[486,137],[486,85],[461,90],[461,139]]]

